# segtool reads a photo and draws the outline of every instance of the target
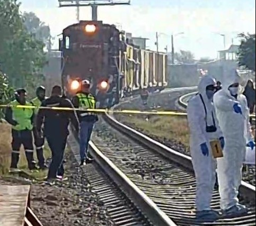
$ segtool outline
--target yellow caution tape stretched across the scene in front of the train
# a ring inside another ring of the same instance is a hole
[[[82,109],[72,107],[37,107],[27,105],[0,105],[1,107],[16,107],[20,109],[48,109],[48,110],[59,110],[59,111],[86,111],[95,113],[119,113],[119,114],[156,114],[156,115],[187,115],[187,113],[174,112],[174,111],[139,111],[139,110],[109,110],[109,109]],[[255,114],[251,114],[251,117],[255,117]]]

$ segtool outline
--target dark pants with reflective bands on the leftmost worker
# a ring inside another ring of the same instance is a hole
[[[31,130],[12,130],[12,160],[11,168],[17,168],[20,159],[21,144],[25,149],[29,169],[34,168],[33,164],[33,135]]]

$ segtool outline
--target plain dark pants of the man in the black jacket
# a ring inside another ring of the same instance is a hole
[[[63,158],[67,143],[67,134],[46,134],[46,139],[51,149],[51,164],[48,171],[48,179],[64,175]]]

